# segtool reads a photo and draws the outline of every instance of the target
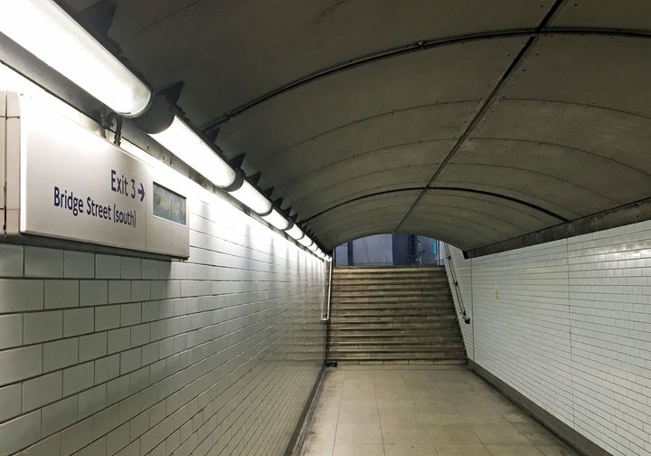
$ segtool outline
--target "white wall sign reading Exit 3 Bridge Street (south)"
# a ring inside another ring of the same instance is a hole
[[[153,188],[162,177],[156,169],[71,119],[25,106],[21,233],[188,255],[186,221],[153,213]],[[180,197],[184,210],[185,198]]]

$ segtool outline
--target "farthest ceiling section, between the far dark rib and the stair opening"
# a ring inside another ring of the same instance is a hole
[[[328,247],[363,233],[392,233],[417,192],[378,195],[342,204],[309,221]],[[560,221],[548,214],[492,195],[429,190],[401,224],[400,232],[433,235],[461,248],[475,248],[530,233]]]

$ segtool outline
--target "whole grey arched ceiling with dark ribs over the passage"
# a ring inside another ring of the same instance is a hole
[[[325,247],[651,196],[648,0],[118,0],[109,37]]]

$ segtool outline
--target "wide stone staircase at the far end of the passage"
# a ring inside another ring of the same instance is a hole
[[[443,267],[335,268],[328,361],[465,364]]]

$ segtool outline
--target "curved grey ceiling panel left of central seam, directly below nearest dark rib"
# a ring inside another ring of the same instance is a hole
[[[363,119],[481,100],[523,43],[523,37],[516,37],[451,44],[339,71],[245,111],[222,126],[216,142],[227,155],[249,151],[250,164],[256,166],[259,156]],[[450,133],[462,131],[455,127]]]

